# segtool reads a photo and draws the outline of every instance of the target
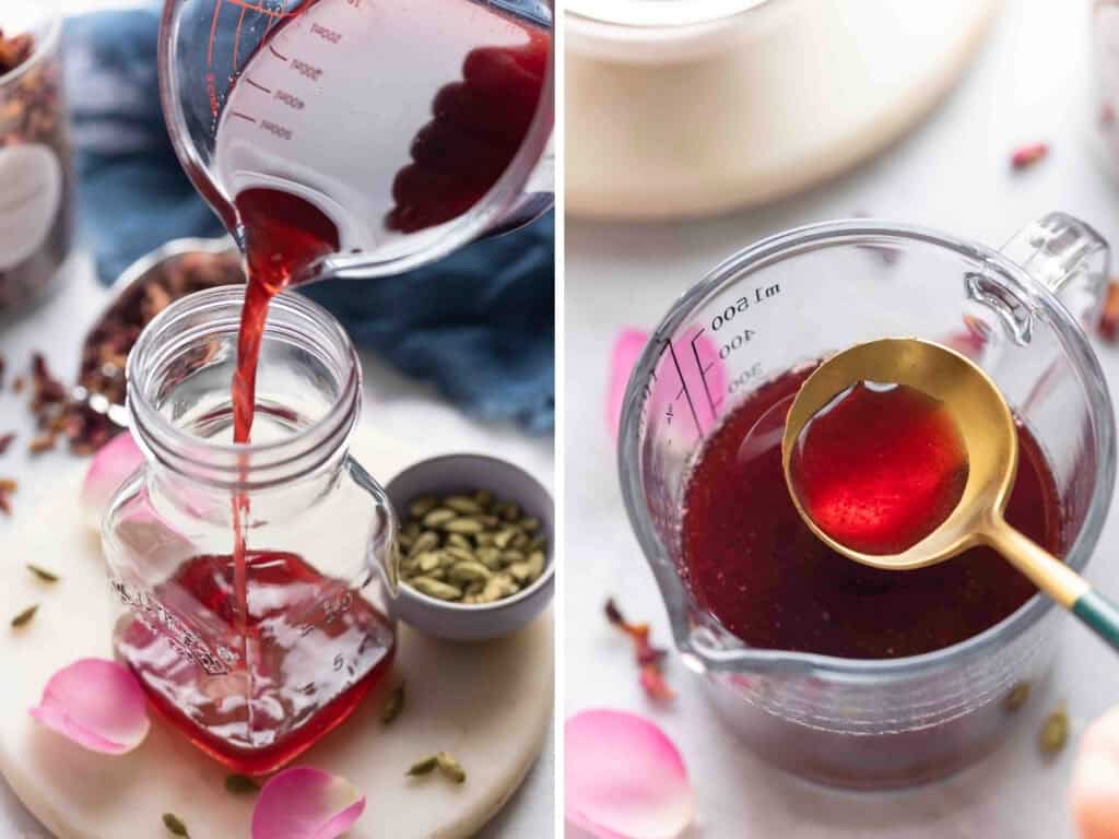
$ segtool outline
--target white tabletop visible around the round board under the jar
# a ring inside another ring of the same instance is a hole
[[[38,3],[41,0],[3,0]],[[140,6],[137,0],[63,0],[67,13],[97,8]],[[2,21],[0,21],[2,22]],[[0,355],[8,359],[8,380],[12,369],[22,370],[30,353],[46,353],[51,367],[60,375],[72,376],[77,367],[78,346],[86,326],[93,321],[105,299],[96,286],[87,258],[77,254],[67,268],[64,290],[51,301],[12,324],[0,324]],[[539,478],[553,483],[554,446],[551,437],[532,437],[519,430],[472,421],[455,411],[426,386],[406,379],[376,358],[363,358],[366,381],[365,421],[376,422],[380,431],[415,449],[416,458],[429,453],[471,451],[510,460]],[[10,388],[0,392],[0,433],[18,431],[20,440],[2,460],[0,477],[20,482],[13,499],[15,515],[30,506],[32,497],[49,490],[53,470],[64,466],[70,455],[55,452],[34,462],[25,447],[32,434],[30,414]],[[387,477],[383,477],[386,478]],[[0,528],[9,522],[0,517]],[[19,557],[0,557],[0,562],[18,562]],[[525,784],[509,801],[479,839],[506,837],[548,837],[554,830],[554,738],[549,735],[545,750]],[[38,822],[19,804],[0,779],[0,837],[3,839],[50,839]],[[231,838],[232,839],[232,838]],[[402,837],[401,839],[411,839]]]

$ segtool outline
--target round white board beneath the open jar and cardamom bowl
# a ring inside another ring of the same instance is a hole
[[[408,465],[392,440],[361,430],[354,454],[380,480]],[[195,839],[250,836],[253,795],[226,792],[228,770],[203,755],[154,715],[134,752],[94,754],[40,727],[27,714],[43,686],[75,659],[111,658],[116,606],[97,536],[77,507],[83,468],[60,480],[38,509],[21,509],[0,546],[0,773],[58,839],[153,839],[164,812]],[[57,571],[46,584],[25,569]],[[8,626],[41,604],[20,630]],[[514,637],[485,644],[439,641],[399,628],[395,672],[354,716],[297,758],[349,779],[366,795],[351,839],[457,839],[476,833],[508,800],[539,754],[553,713],[551,610]],[[391,726],[379,713],[387,690],[407,682],[404,711]],[[405,779],[415,761],[445,750],[468,779]]]

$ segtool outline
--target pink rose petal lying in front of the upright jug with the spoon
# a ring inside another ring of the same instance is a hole
[[[598,839],[673,839],[695,795],[679,751],[636,714],[587,710],[564,727],[567,820]]]

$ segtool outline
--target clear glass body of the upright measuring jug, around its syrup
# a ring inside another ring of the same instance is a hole
[[[1082,571],[1115,482],[1111,402],[1081,328],[1107,274],[1106,243],[1061,214],[1002,252],[892,223],[833,223],[736,254],[661,321],[626,397],[626,506],[684,661],[763,758],[864,789],[974,762],[1018,718],[1007,697],[1022,685],[1041,692],[1060,610],[1035,596],[966,641],[904,658],[751,648],[702,607],[683,564],[684,491],[704,443],[744,395],[788,370],[885,336],[947,342],[991,376],[1038,442],[1056,483],[1064,558]]]

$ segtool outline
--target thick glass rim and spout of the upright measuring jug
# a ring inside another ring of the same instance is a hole
[[[700,301],[724,283],[741,275],[746,268],[784,258],[796,248],[805,245],[825,242],[837,243],[843,239],[854,242],[861,237],[894,237],[921,242],[952,251],[968,258],[982,261],[1013,276],[1024,289],[1041,300],[1046,312],[1051,315],[1052,326],[1059,336],[1062,349],[1070,355],[1081,377],[1087,380],[1089,420],[1096,437],[1094,454],[1100,464],[1099,480],[1092,488],[1083,524],[1066,552],[1065,562],[1075,571],[1082,571],[1091,558],[1102,532],[1103,522],[1111,506],[1116,479],[1116,425],[1111,397],[1099,359],[1092,352],[1088,341],[1083,340],[1083,331],[1075,318],[1053,291],[1042,285],[1021,265],[997,249],[919,225],[858,218],[805,225],[778,233],[724,260],[673,304],[668,313],[657,324],[652,337],[638,359],[622,403],[623,409],[618,437],[618,469],[626,511],[638,543],[652,566],[657,585],[669,613],[676,647],[684,654],[686,663],[700,672],[802,673],[845,684],[878,684],[888,679],[905,679],[935,670],[947,662],[975,654],[981,650],[996,648],[1005,643],[1007,639],[1016,638],[1027,631],[1056,606],[1051,598],[1038,593],[1007,618],[965,641],[919,656],[896,659],[850,659],[749,647],[730,650],[700,650],[693,643],[688,594],[677,575],[669,552],[653,529],[648,510],[643,506],[645,487],[638,468],[640,461],[638,432],[643,402],[641,398],[643,385],[641,383],[645,383],[656,368],[660,355],[659,347],[662,343],[661,340],[658,340],[658,336],[675,333]]]

